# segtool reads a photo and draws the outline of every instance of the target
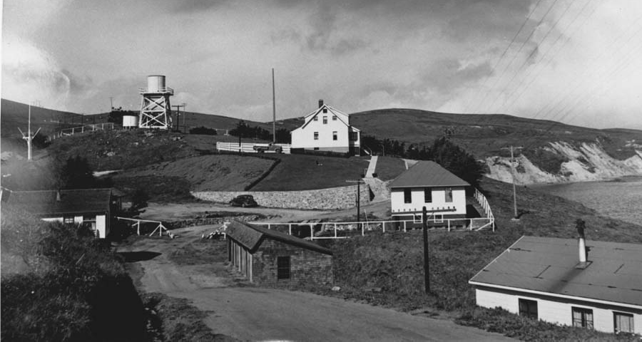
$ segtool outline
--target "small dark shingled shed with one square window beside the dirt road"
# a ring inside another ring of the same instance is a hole
[[[332,284],[332,251],[292,235],[234,221],[225,230],[228,260],[258,284]]]

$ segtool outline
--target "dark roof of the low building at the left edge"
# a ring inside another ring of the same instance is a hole
[[[82,189],[58,191],[14,191],[7,202],[23,207],[34,215],[83,214],[107,212],[111,204],[111,189]]]

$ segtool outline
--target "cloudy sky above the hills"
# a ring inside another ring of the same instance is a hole
[[[640,0],[4,0],[1,96],[76,113],[172,104],[505,113],[642,129]]]

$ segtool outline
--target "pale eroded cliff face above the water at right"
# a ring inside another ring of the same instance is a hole
[[[559,172],[541,170],[527,157],[519,155],[515,158],[516,182],[518,184],[586,182],[642,175],[642,148],[637,147],[636,145],[637,155],[626,160],[617,160],[608,155],[597,142],[584,142],[580,146],[574,146],[568,142],[550,142],[544,149],[568,160],[561,163]],[[486,176],[502,182],[512,182],[509,157],[486,157],[484,161],[490,170]]]

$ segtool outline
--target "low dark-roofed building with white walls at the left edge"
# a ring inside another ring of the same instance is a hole
[[[11,191],[5,201],[48,222],[86,224],[96,237],[109,234],[111,189]]]

